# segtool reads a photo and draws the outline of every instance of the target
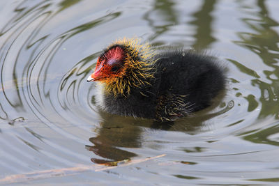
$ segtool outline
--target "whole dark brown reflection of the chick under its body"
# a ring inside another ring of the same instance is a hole
[[[213,105],[213,107],[216,107],[216,105]],[[223,109],[216,113],[208,113],[213,107],[199,111],[195,116],[193,115],[181,118],[176,122],[166,123],[140,118],[126,118],[99,111],[100,116],[102,116],[102,123],[100,123],[100,127],[97,130],[98,136],[89,139],[94,146],[86,146],[86,149],[104,158],[91,158],[91,161],[97,164],[130,160],[131,157],[137,155],[127,150],[122,150],[121,148],[141,148],[145,139],[145,130],[166,130],[197,134],[200,132],[200,128],[205,121],[229,111],[229,109],[234,107],[234,102],[229,102]]]

